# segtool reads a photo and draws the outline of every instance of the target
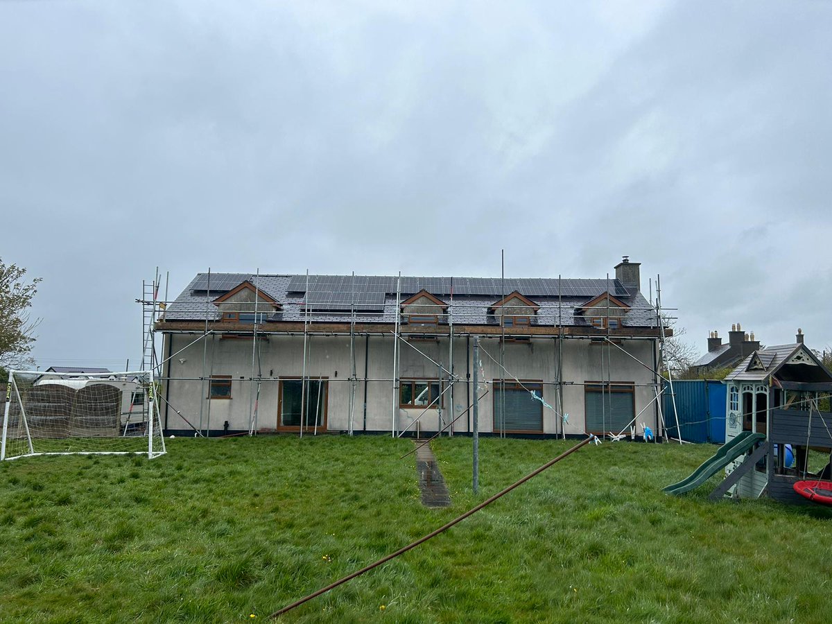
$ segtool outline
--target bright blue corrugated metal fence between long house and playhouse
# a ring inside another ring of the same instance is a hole
[[[726,385],[713,379],[680,380],[673,382],[676,394],[676,413],[679,417],[681,439],[688,442],[726,441]],[[669,384],[665,384],[661,410],[667,434],[680,437],[673,413]]]

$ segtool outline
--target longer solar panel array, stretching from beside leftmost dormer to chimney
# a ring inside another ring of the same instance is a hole
[[[354,280],[354,281],[353,281]],[[384,295],[396,292],[398,278],[368,275],[310,275],[310,302],[314,299],[329,303],[347,305],[355,297],[360,302],[384,303]],[[401,293],[414,295],[419,290],[427,290],[433,295],[450,295],[453,285],[454,295],[483,295],[500,297],[517,290],[527,297],[594,297],[607,290],[612,295],[626,297],[630,293],[618,280],[584,280],[584,279],[542,279],[520,278],[501,280],[498,277],[402,277]],[[211,285],[211,290],[214,290]],[[289,283],[289,292],[306,291],[306,275],[295,275]],[[332,295],[329,297],[329,295]],[[329,297],[329,299],[327,299]]]

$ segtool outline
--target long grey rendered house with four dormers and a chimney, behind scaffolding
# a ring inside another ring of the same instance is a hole
[[[478,394],[483,433],[661,434],[626,257],[600,279],[200,273],[155,329],[170,433],[468,433]]]

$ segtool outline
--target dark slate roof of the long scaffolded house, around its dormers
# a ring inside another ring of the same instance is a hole
[[[220,312],[213,303],[220,295],[232,290],[244,280],[278,301],[282,310],[273,312],[269,322],[303,322],[305,317],[306,275],[252,275],[248,273],[211,274],[210,291],[207,274],[199,273],[167,306],[166,321],[219,320]],[[397,277],[355,275],[310,275],[309,305],[313,323],[349,322],[352,301],[356,302],[359,323],[392,324],[396,319]],[[607,290],[626,305],[631,306],[623,318],[623,327],[655,328],[656,311],[640,292],[630,292],[619,280],[557,280],[512,279],[504,283],[499,278],[401,278],[402,301],[420,290],[427,290],[448,303],[448,314],[453,324],[498,324],[488,313],[489,306],[518,290],[540,305],[532,325],[587,326],[589,322],[579,308]],[[453,289],[453,302],[451,291]],[[558,291],[560,290],[560,297]],[[264,311],[270,311],[264,306]],[[445,315],[443,323],[448,322]]]

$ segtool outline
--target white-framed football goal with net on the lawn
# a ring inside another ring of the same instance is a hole
[[[32,455],[165,453],[151,374],[12,371],[0,460]]]

